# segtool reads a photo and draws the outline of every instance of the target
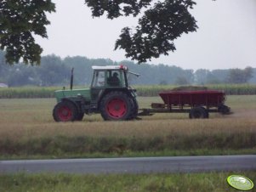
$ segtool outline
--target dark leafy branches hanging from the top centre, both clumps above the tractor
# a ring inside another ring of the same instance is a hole
[[[108,19],[132,14],[137,16],[142,8],[147,8],[139,19],[134,32],[131,28],[122,29],[115,49],[122,48],[126,57],[138,60],[139,63],[161,54],[168,55],[174,51],[174,40],[184,32],[196,31],[196,20],[189,9],[196,4],[192,0],[85,0],[94,17],[106,12]]]

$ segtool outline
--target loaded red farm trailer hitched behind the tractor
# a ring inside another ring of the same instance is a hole
[[[208,118],[209,112],[229,114],[225,92],[216,90],[165,91],[159,93],[163,104],[152,103],[151,109],[141,109],[140,116],[153,113],[189,113],[190,118]]]

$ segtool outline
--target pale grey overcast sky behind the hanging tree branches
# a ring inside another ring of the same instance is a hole
[[[43,55],[85,56],[89,59],[126,59],[114,51],[125,26],[137,25],[133,17],[92,18],[84,0],[53,0],[56,13],[48,14],[48,39],[37,37]],[[196,0],[191,13],[199,29],[175,41],[177,50],[152,59],[151,64],[177,65],[184,69],[256,67],[256,0]]]

